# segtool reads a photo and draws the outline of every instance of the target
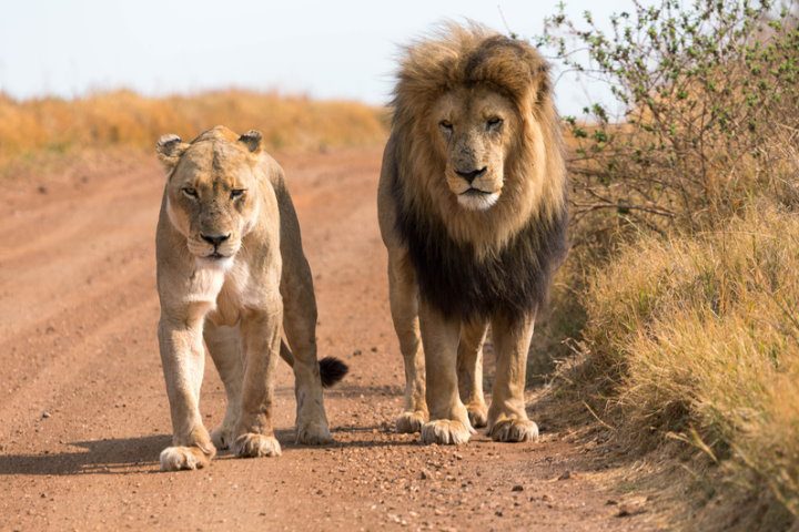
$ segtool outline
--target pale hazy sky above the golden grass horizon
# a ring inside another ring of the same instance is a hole
[[[444,19],[537,34],[557,0],[0,0],[0,91],[24,99],[127,88],[144,94],[277,89],[385,104],[400,45]],[[567,1],[598,21],[631,1]],[[586,90],[556,86],[574,114]]]

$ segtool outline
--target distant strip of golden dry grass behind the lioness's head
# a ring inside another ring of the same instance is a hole
[[[192,139],[216,124],[261,130],[272,150],[371,145],[385,139],[385,115],[383,109],[355,102],[235,90],[168,98],[117,91],[26,101],[0,94],[0,164],[81,147],[150,150],[163,133]]]

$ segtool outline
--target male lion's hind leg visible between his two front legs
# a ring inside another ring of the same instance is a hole
[[[483,342],[487,329],[485,321],[465,323],[461,327],[458,344],[458,389],[475,428],[485,427],[488,422],[488,406],[483,396]]]

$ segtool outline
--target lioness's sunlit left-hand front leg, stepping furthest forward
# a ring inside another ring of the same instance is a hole
[[[190,310],[181,313],[190,315]],[[205,351],[202,317],[181,319],[161,316],[159,323],[161,364],[172,417],[172,447],[161,452],[161,470],[199,469],[216,454],[200,416]]]

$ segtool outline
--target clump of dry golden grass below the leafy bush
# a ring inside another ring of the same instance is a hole
[[[799,215],[761,202],[725,231],[641,238],[584,304],[624,438],[687,441],[799,513]]]

